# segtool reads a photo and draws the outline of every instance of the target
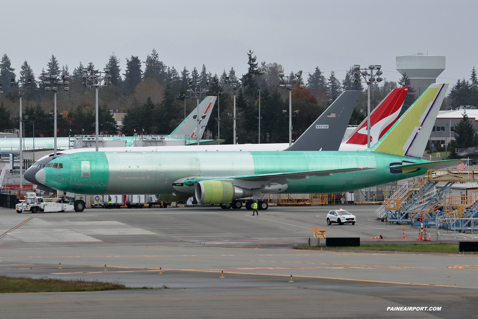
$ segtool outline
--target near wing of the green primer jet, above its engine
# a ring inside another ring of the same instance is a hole
[[[347,172],[356,172],[356,171],[365,171],[369,169],[375,169],[375,167],[354,167],[354,168],[344,168],[344,169],[330,169],[323,171],[299,171],[299,172],[285,172],[285,173],[272,173],[272,174],[258,174],[258,175],[244,175],[244,176],[218,176],[218,177],[195,177],[191,179],[185,179],[185,185],[195,185],[197,182],[205,180],[223,180],[223,179],[235,179],[243,180],[250,182],[261,182],[261,181],[276,181],[281,180],[284,182],[286,179],[304,179],[308,176],[328,176],[336,173],[347,173]],[[285,181],[282,184],[288,183]]]

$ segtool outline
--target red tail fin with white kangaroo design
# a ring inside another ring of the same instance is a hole
[[[401,87],[392,90],[370,113],[370,139],[371,143],[377,142],[383,134],[395,123],[400,115],[403,101],[410,87]],[[367,118],[342,141],[342,144],[367,144]]]

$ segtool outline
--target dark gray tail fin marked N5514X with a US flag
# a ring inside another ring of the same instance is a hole
[[[338,151],[360,91],[344,91],[312,125],[284,151]]]

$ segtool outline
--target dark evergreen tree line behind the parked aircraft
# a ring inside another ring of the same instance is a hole
[[[279,74],[285,70],[276,62],[258,62],[253,51],[247,52],[246,61],[247,72],[240,76],[236,75],[233,67],[228,71],[224,69],[220,75],[213,75],[206,70],[204,64],[200,68],[201,71],[196,67],[191,72],[186,67],[177,71],[174,66],[166,66],[160,61],[158,52],[152,50],[145,61],[141,61],[139,56],[127,58],[126,69],[122,72],[120,59],[112,53],[105,65],[111,75],[111,85],[101,88],[99,92],[100,134],[170,134],[183,120],[185,104],[186,113],[196,107],[196,99],[183,97],[183,94],[188,95],[190,83],[193,87],[204,87],[207,82],[208,94],[219,95],[219,98],[203,137],[217,138],[219,103],[220,138],[226,140],[225,143],[232,144],[233,121],[228,115],[232,113],[233,103],[225,86],[226,77],[229,77],[229,81],[241,80],[244,85],[244,92],[236,99],[236,113],[239,114],[237,141],[257,143],[261,89],[261,143],[287,142],[288,118],[283,115],[282,110],[288,110],[288,93],[279,89]],[[30,94],[23,99],[23,113],[29,115],[29,120],[25,122],[25,134],[33,136],[34,121],[35,136],[53,135],[53,120],[48,114],[53,112],[53,93],[45,92],[42,85],[43,73],[47,72],[51,75],[60,76],[64,73],[71,76],[70,90],[57,94],[58,113],[63,115],[58,120],[58,136],[94,134],[95,91],[82,85],[84,68],[88,71],[98,69],[93,62],[86,65],[80,62],[70,72],[67,64],[60,67],[58,60],[52,55],[40,75],[35,75],[25,61],[21,66],[20,76],[17,77],[9,57],[4,54],[0,61],[0,83],[3,83],[5,92],[0,98],[0,130],[18,127],[12,116],[16,113],[14,111],[18,110],[18,98],[8,91],[10,79],[22,82],[31,79]],[[361,83],[353,81],[352,68],[346,72],[344,80],[338,80],[335,72],[330,72],[326,77],[317,66],[314,72],[308,74],[306,81],[301,81],[306,82],[306,86],[294,89],[292,93],[293,111],[299,111],[293,117],[293,139],[300,136],[344,90],[362,91],[350,124],[359,124],[365,118],[367,94]],[[400,84],[407,85],[410,80],[404,76],[401,81]],[[372,90],[372,109],[396,87],[396,82],[389,81],[375,85]],[[110,112],[127,113],[120,127],[116,125]]]

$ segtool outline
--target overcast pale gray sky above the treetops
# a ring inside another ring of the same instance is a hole
[[[52,54],[70,72],[81,61],[104,67],[156,49],[181,71],[203,63],[220,74],[247,69],[250,49],[258,61],[285,72],[336,71],[353,64],[381,64],[397,81],[395,57],[422,52],[446,56],[440,82],[469,78],[478,63],[475,1],[1,1],[0,53],[15,72],[28,61],[35,73]],[[144,70],[144,66],[143,66]],[[306,78],[306,76],[305,76]]]

